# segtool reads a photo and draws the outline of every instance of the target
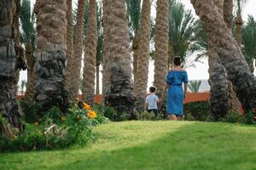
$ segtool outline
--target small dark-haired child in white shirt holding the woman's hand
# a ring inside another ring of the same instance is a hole
[[[145,111],[148,111],[148,113],[153,111],[154,116],[157,116],[157,104],[160,100],[158,99],[157,95],[155,95],[156,88],[154,86],[150,87],[149,92],[150,94],[146,98],[144,109]]]

